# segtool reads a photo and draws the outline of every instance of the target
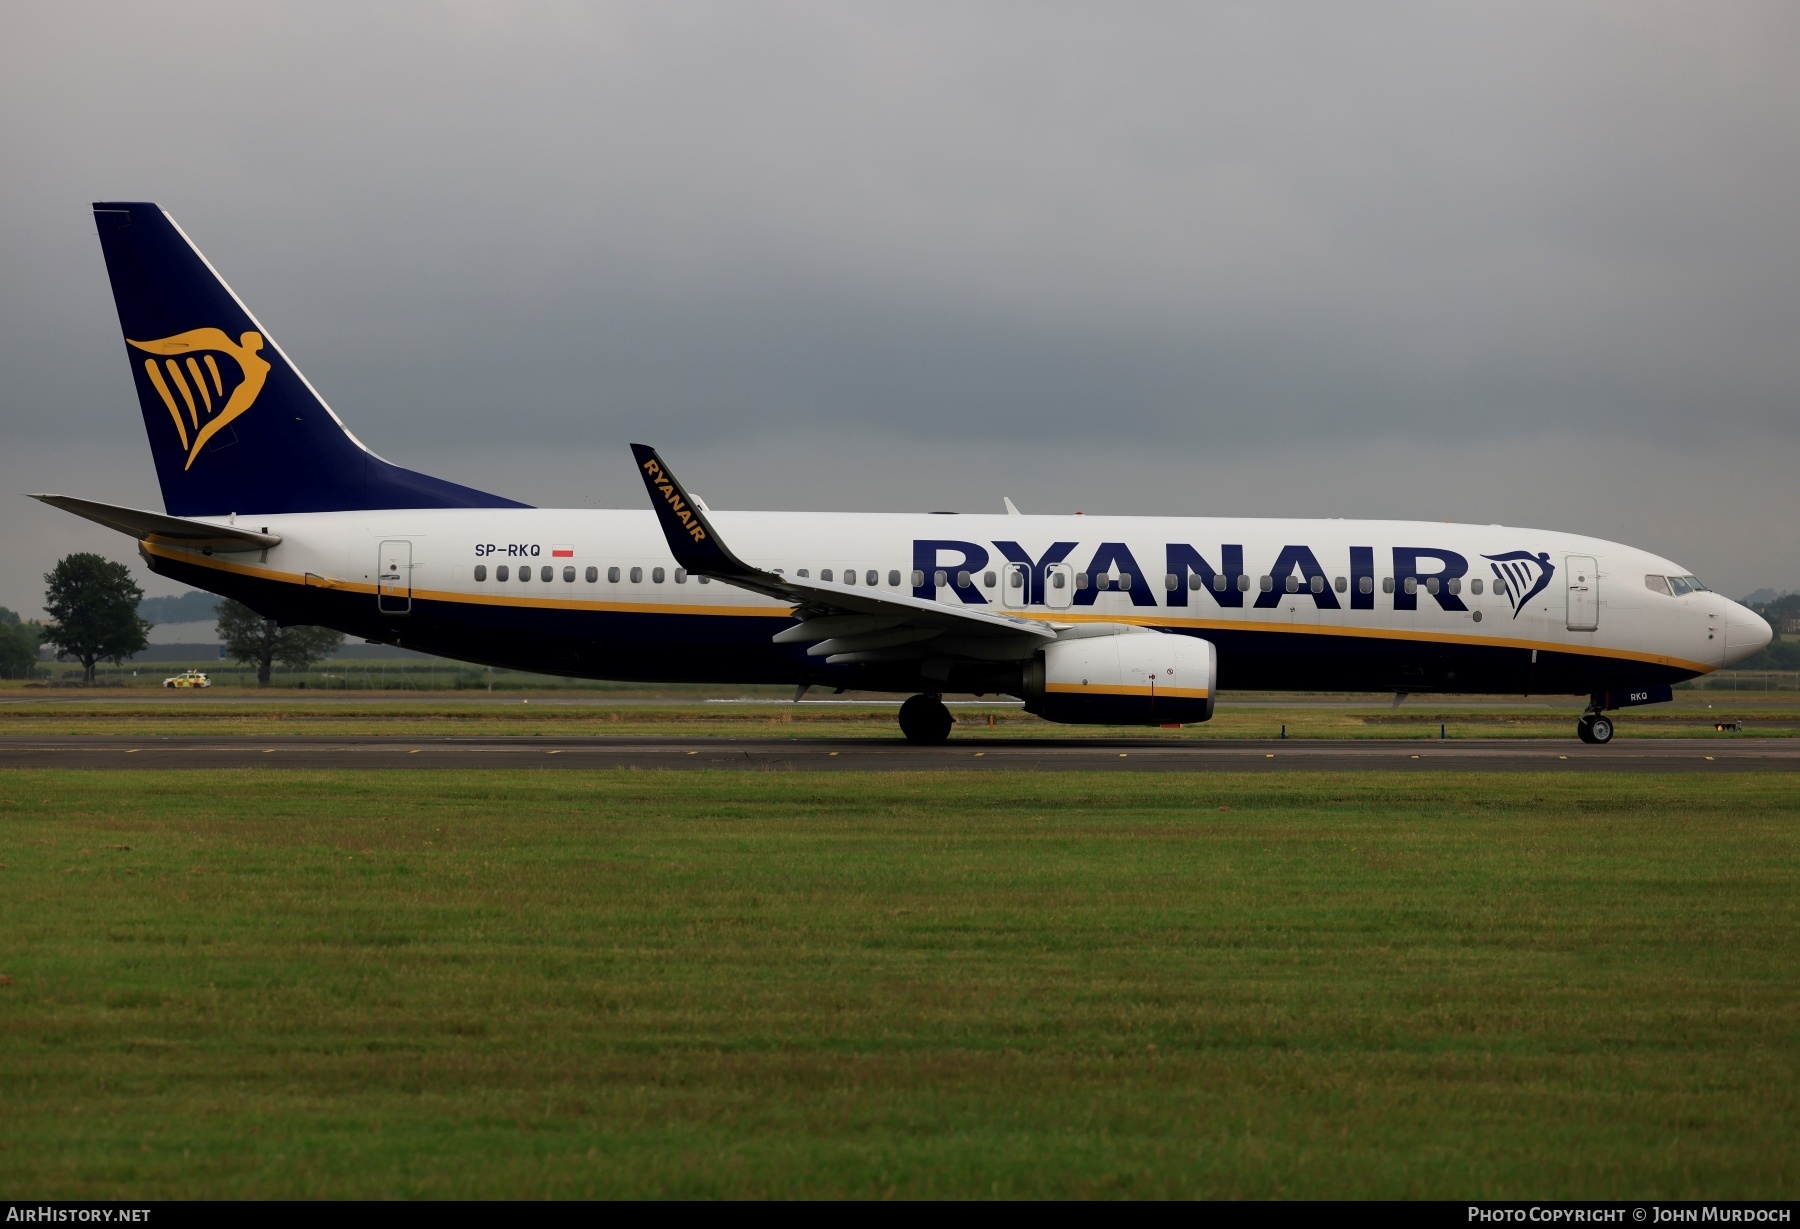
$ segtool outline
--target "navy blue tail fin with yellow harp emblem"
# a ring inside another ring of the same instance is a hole
[[[364,448],[157,205],[94,221],[171,516],[526,507]]]

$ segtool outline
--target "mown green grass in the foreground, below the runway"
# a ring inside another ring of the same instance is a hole
[[[1760,1197],[1800,781],[0,772],[0,1186]]]

